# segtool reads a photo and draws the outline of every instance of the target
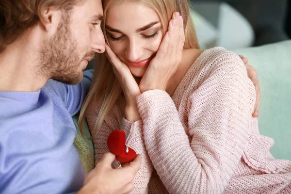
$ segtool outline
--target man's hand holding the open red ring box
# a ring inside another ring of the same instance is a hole
[[[114,159],[115,155],[105,153],[77,194],[128,194],[133,189],[133,178],[140,168],[141,156],[118,169],[112,167]]]

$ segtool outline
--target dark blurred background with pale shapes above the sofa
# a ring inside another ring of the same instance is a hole
[[[290,39],[290,0],[190,0],[201,49],[238,49]]]

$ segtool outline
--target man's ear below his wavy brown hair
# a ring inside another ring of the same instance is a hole
[[[62,11],[56,7],[50,6],[42,10],[39,18],[43,29],[54,34],[62,19]]]

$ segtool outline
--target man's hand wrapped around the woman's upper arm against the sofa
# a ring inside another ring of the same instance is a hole
[[[259,116],[259,106],[260,106],[260,87],[259,87],[259,80],[258,80],[258,75],[257,75],[257,71],[256,69],[251,66],[248,65],[248,59],[243,57],[242,55],[240,55],[245,67],[246,67],[246,71],[247,71],[247,76],[249,77],[249,79],[251,79],[251,81],[253,81],[255,89],[256,89],[256,103],[255,103],[255,108],[253,111],[253,117],[258,117]]]

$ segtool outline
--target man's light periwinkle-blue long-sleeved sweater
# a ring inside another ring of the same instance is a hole
[[[74,193],[86,176],[73,145],[93,71],[78,85],[49,80],[37,92],[0,91],[0,193]]]

